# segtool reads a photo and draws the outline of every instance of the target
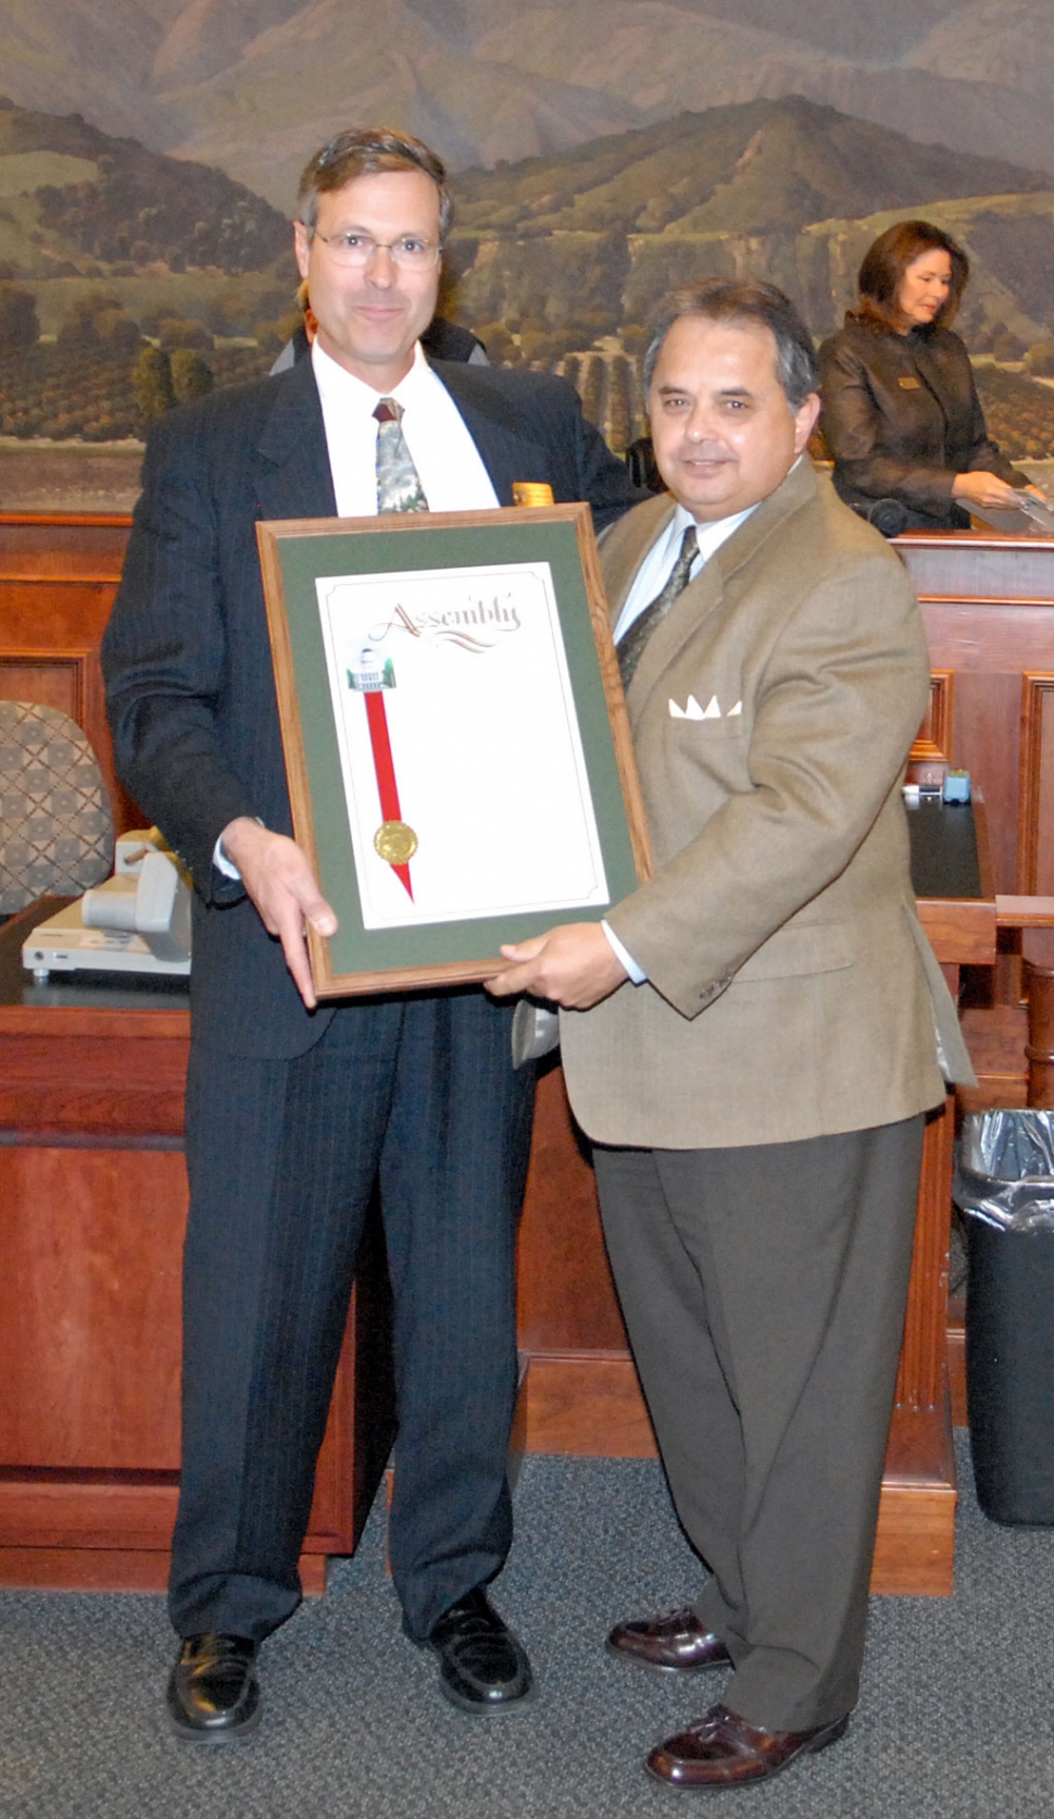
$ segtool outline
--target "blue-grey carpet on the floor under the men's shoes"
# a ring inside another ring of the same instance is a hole
[[[765,1819],[1054,1815],[1054,1530],[987,1523],[960,1450],[952,1599],[874,1599],[843,1743],[725,1794]],[[162,1726],[173,1643],[160,1599],[0,1593],[4,1819],[620,1819],[692,1795],[651,1783],[651,1743],[720,1677],[669,1683],[611,1661],[607,1626],[678,1603],[691,1553],[658,1466],[529,1459],[498,1604],[531,1648],[536,1703],[463,1717],[398,1630],[374,1512],[329,1595],[262,1655],[265,1717],[224,1750]],[[712,1810],[703,1795],[696,1804]]]

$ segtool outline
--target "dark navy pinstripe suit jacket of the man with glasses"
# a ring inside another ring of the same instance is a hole
[[[563,380],[436,371],[502,506],[514,480],[547,480],[556,502],[589,500],[600,529],[643,497]],[[334,513],[309,360],[173,411],[147,444],[104,638],[118,773],[194,873],[194,1039],[231,1055],[302,1053],[333,1015],[303,1010],[280,948],[211,855],[236,815],[293,831],[256,520]]]

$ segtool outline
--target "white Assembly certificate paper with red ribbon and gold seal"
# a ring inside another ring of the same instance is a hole
[[[605,908],[549,562],[327,575],[316,595],[363,928]],[[374,846],[367,695],[416,840],[398,868]]]

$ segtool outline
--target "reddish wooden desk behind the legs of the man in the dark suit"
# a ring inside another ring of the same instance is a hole
[[[47,906],[49,913],[56,904]],[[180,1461],[184,982],[36,986],[0,931],[0,1584],[158,1592]],[[58,979],[58,975],[55,975]],[[358,1543],[391,1435],[365,1246],[302,1559]]]

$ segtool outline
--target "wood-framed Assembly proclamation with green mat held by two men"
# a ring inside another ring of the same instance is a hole
[[[649,875],[589,506],[256,526],[320,999],[487,979]]]

